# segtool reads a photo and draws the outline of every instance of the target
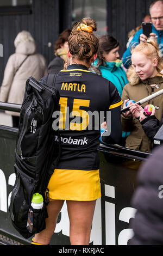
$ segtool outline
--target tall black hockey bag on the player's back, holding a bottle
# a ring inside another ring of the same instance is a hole
[[[53,112],[59,104],[55,89],[56,74],[49,74],[47,82],[37,82],[30,77],[21,107],[18,138],[16,142],[16,181],[11,194],[10,217],[15,229],[26,239],[45,229],[48,204],[48,182],[58,164],[61,143],[56,144],[52,123]],[[27,228],[28,212],[34,193],[43,197],[43,208],[32,209],[33,227]]]

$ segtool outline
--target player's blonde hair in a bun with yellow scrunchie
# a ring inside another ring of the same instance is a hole
[[[93,55],[97,53],[99,44],[94,31],[97,31],[96,22],[90,18],[84,18],[74,25],[68,38],[72,57],[85,60],[87,63],[93,61]]]

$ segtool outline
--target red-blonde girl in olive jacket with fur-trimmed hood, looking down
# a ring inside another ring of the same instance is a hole
[[[122,101],[126,107],[128,100],[135,102],[163,89],[163,78],[161,70],[163,68],[159,48],[155,41],[149,40],[137,45],[131,51],[132,65],[127,72],[129,83],[123,88]],[[142,105],[152,104],[155,107],[155,117],[160,121],[163,109],[162,95],[155,97]],[[129,149],[151,152],[153,142],[146,136],[142,125],[142,107],[135,103],[129,103],[130,111],[121,115],[123,131],[131,131],[126,139],[126,147]],[[141,116],[140,116],[141,112]]]

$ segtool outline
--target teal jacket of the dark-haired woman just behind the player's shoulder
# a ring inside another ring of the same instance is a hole
[[[123,87],[128,83],[126,72],[122,66],[117,67],[115,62],[106,62],[106,66],[99,66],[99,69],[102,77],[112,82],[121,96]]]

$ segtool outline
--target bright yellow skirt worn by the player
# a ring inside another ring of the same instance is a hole
[[[55,169],[48,184],[49,200],[92,201],[101,197],[98,170]]]

